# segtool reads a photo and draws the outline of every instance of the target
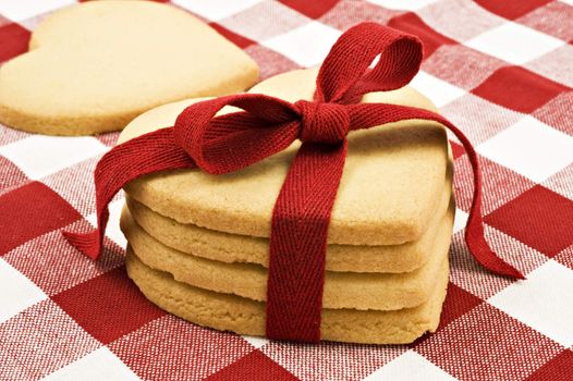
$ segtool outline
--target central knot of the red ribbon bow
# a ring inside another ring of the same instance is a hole
[[[298,100],[295,106],[302,116],[301,140],[337,144],[346,137],[350,116],[345,106],[307,100]]]

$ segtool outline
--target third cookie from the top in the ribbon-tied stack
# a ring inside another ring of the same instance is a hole
[[[405,273],[326,272],[322,306],[392,310],[415,307],[431,294],[443,258],[448,256],[453,225],[453,202],[440,219],[434,245],[426,247],[428,262]],[[174,250],[147,234],[123,209],[121,228],[134,254],[146,266],[196,287],[235,294],[254,300],[267,298],[267,269],[252,263],[223,263]]]

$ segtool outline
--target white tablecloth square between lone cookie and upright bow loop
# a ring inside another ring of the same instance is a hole
[[[297,64],[318,65],[342,33],[318,22],[310,22],[289,33],[269,38],[263,46],[278,51]]]

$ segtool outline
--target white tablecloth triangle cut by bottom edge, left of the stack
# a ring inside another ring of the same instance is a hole
[[[44,380],[141,380],[108,347],[102,346],[54,371]]]

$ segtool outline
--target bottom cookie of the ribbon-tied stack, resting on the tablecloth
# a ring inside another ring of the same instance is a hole
[[[261,302],[178,282],[169,273],[145,266],[130,247],[126,268],[144,295],[173,315],[221,331],[265,335],[265,304]],[[444,259],[425,304],[393,311],[322,309],[321,339],[365,344],[411,343],[438,328],[447,286],[448,259]]]

